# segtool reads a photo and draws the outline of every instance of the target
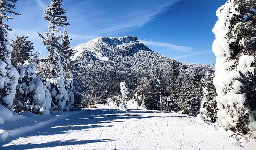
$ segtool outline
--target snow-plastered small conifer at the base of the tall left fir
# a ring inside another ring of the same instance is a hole
[[[63,71],[62,59],[59,53],[54,52],[54,64],[51,65],[50,70],[52,74],[46,79],[45,86],[51,93],[52,101],[58,110],[65,110],[68,100],[68,93],[65,89],[65,72]]]

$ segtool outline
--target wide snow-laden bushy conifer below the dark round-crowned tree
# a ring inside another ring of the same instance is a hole
[[[18,81],[18,94],[21,98],[18,105],[24,107],[25,110],[32,113],[40,113],[40,109],[50,109],[51,107],[51,94],[45,87],[43,82],[37,77],[35,73],[35,66],[28,61],[18,64],[18,71],[20,78]]]

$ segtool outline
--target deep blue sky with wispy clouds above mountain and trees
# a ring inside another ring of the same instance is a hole
[[[136,36],[153,51],[181,62],[209,64],[216,10],[227,0],[63,0],[71,46],[93,38]],[[48,22],[41,16],[50,0],[19,0],[8,24],[18,36],[28,35],[35,51],[47,55],[37,32]]]

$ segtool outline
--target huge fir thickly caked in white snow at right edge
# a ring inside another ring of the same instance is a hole
[[[228,0],[216,11],[213,83],[221,126],[256,137],[256,1]]]

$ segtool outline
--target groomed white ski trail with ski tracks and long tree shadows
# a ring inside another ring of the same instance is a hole
[[[256,144],[229,139],[232,132],[179,113],[86,109],[74,114],[22,134],[0,149],[256,149]]]

